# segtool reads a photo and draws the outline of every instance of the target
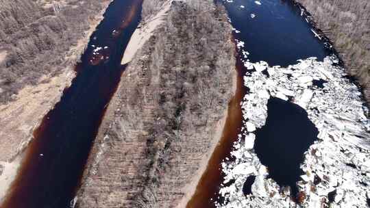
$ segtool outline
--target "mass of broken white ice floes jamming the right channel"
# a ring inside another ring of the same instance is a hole
[[[238,42],[239,49],[242,45]],[[358,88],[344,78],[345,70],[333,65],[337,62],[334,56],[325,57],[323,62],[311,57],[282,68],[269,66],[267,62],[244,61],[248,69],[255,70],[244,77],[249,89],[241,103],[244,127],[234,143],[232,159],[222,164],[225,178],[219,194],[225,200],[217,207],[323,207],[325,203],[330,204],[330,192],[336,192],[330,207],[367,207],[370,123],[365,114],[368,109]],[[268,74],[262,73],[264,70]],[[324,88],[312,83],[319,79],[328,81]],[[308,148],[301,164],[306,174],[301,176],[297,187],[306,198],[300,204],[291,200],[288,188],[267,178],[268,167],[266,169],[254,153],[256,136],[251,131],[264,126],[267,101],[271,97],[300,105],[319,129],[318,140]],[[256,180],[251,186],[252,194],[245,196],[243,185],[251,175],[256,176]]]

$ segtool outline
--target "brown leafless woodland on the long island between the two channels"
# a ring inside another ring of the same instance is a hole
[[[112,121],[101,126],[105,134],[91,155],[103,154],[89,167],[77,207],[179,203],[182,188],[221,137],[217,123],[236,73],[231,32],[225,11],[211,0],[173,1],[166,23],[121,78],[106,116],[108,122],[114,112]]]

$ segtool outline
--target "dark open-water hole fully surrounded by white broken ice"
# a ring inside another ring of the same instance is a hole
[[[256,131],[254,150],[269,177],[280,186],[289,185],[297,194],[299,168],[304,153],[317,140],[318,129],[307,112],[295,103],[272,97],[267,103],[266,125]]]

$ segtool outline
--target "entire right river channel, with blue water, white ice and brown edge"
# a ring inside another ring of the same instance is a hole
[[[293,1],[219,3],[234,27],[243,127],[188,207],[366,207],[367,109],[328,40]]]

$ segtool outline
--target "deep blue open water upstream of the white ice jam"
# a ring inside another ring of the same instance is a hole
[[[293,1],[217,0],[225,5],[234,36],[243,42],[250,62],[288,66],[299,59],[324,57],[333,53],[325,40],[315,36],[306,13]],[[258,2],[258,3],[256,3]]]

